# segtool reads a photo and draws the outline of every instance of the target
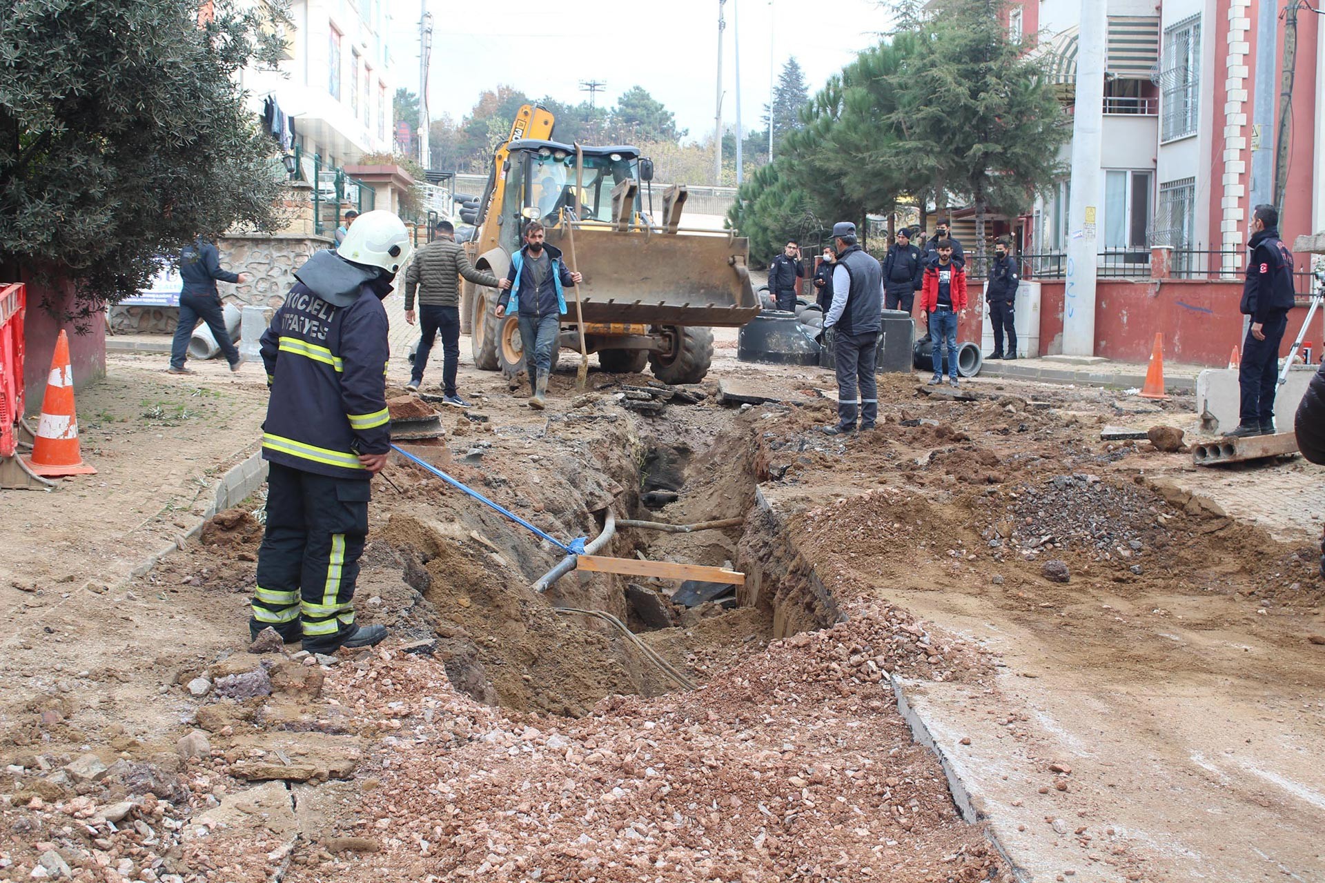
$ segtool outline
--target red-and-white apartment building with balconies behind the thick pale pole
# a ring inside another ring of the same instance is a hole
[[[1117,274],[1147,273],[1151,246],[1174,249],[1174,269],[1236,274],[1246,262],[1251,216],[1251,151],[1273,144],[1275,128],[1257,131],[1253,115],[1256,16],[1261,0],[1110,0],[1104,89],[1101,192],[1094,204],[1101,266]],[[1273,0],[1271,0],[1273,1]],[[1280,4],[1283,5],[1283,4]],[[1008,29],[1044,53],[1065,106],[1076,83],[1077,0],[1018,0]],[[1325,226],[1325,114],[1321,113],[1325,41],[1320,17],[1297,21],[1288,181],[1281,230]],[[1276,19],[1276,127],[1284,23]],[[1063,152],[1067,163],[1071,146]],[[1067,250],[1064,179],[1023,218],[1023,250]],[[1052,266],[1052,261],[1049,261]]]

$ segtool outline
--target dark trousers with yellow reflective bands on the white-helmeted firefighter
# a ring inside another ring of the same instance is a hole
[[[368,535],[368,482],[269,463],[266,532],[257,553],[253,618],[305,649],[354,630],[354,582]]]

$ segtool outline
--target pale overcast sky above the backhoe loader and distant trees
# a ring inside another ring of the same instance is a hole
[[[507,83],[534,98],[563,102],[588,98],[579,81],[607,83],[598,103],[616,103],[643,86],[676,114],[689,136],[713,130],[717,98],[718,0],[604,3],[559,0],[538,9],[498,4],[427,0],[435,36],[429,113],[462,118],[478,94]],[[419,7],[391,4],[396,83],[419,85]],[[735,120],[735,19],[741,25],[741,122],[759,128],[768,102],[770,26],[772,57],[780,70],[795,56],[810,93],[841,70],[855,53],[877,42],[889,16],[873,0],[727,0],[723,34],[722,105],[725,126]]]

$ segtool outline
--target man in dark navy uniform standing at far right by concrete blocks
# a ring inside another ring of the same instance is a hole
[[[1251,327],[1238,368],[1238,429],[1227,434],[1273,436],[1279,344],[1293,306],[1293,256],[1279,238],[1279,212],[1272,205],[1257,205],[1252,213],[1247,248],[1251,257],[1240,308],[1251,316]]]

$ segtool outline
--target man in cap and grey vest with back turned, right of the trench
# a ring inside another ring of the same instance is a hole
[[[857,413],[863,430],[873,429],[878,420],[874,355],[882,331],[884,269],[857,245],[856,225],[851,221],[833,224],[832,236],[837,263],[824,338],[836,357],[837,424],[824,432],[839,436],[856,432]]]

